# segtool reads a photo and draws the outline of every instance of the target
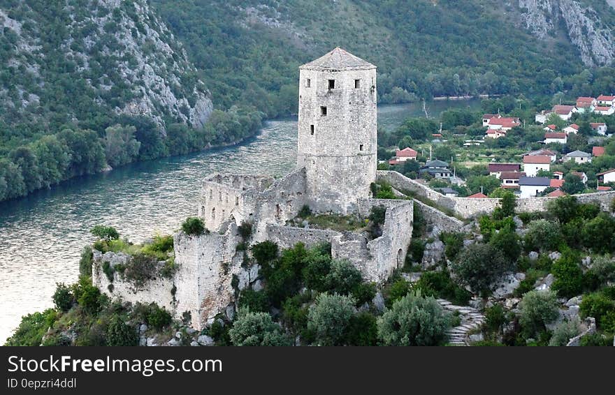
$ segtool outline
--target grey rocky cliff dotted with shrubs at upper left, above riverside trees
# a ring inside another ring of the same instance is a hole
[[[17,118],[145,114],[202,126],[210,94],[145,0],[0,6],[0,108]],[[35,110],[38,107],[38,110]]]

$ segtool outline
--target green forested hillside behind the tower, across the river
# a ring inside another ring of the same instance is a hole
[[[595,79],[593,72],[580,74],[588,66],[571,40],[537,37],[521,26],[530,10],[519,1],[152,0],[152,5],[184,43],[217,105],[255,104],[270,116],[294,110],[297,67],[335,46],[378,66],[381,103],[554,94],[591,86]],[[600,23],[609,27],[612,15],[602,11]]]

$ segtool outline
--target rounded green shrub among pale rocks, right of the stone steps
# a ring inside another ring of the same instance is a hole
[[[559,302],[555,292],[530,291],[519,303],[519,324],[526,338],[546,330],[546,325],[559,316]]]

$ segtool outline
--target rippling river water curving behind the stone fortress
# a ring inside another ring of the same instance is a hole
[[[433,102],[431,116],[478,100]],[[393,129],[422,116],[420,104],[378,108],[379,126]],[[201,179],[215,172],[282,175],[296,161],[296,119],[267,121],[261,133],[236,147],[127,165],[80,177],[49,191],[0,203],[0,344],[22,315],[52,306],[55,283],[77,280],[89,229],[111,225],[140,242],[173,232],[196,214]]]

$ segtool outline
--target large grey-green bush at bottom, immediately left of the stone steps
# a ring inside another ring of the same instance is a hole
[[[433,297],[411,293],[396,301],[377,322],[384,345],[441,345],[447,340],[451,316]]]

